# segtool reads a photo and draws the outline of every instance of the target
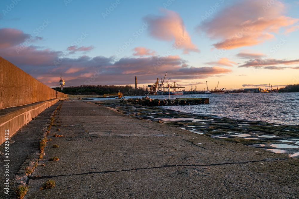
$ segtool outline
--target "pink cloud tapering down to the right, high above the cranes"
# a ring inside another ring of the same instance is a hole
[[[163,41],[173,41],[172,48],[183,49],[184,54],[197,52],[197,46],[192,43],[181,16],[172,11],[162,9],[163,16],[149,15],[144,21],[149,23],[149,33],[152,37]]]

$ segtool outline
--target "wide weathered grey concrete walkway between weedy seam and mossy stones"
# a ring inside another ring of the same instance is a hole
[[[25,198],[298,198],[298,159],[83,101],[57,113]]]

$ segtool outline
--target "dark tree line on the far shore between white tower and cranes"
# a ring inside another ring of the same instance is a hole
[[[130,85],[126,85],[126,86],[81,85],[81,86],[64,87],[63,90],[61,90],[60,87],[56,87],[53,89],[68,95],[104,95],[108,93],[117,93],[118,91],[122,92],[123,95],[143,95],[144,92],[146,92],[146,90],[144,90],[141,87],[135,89]]]

